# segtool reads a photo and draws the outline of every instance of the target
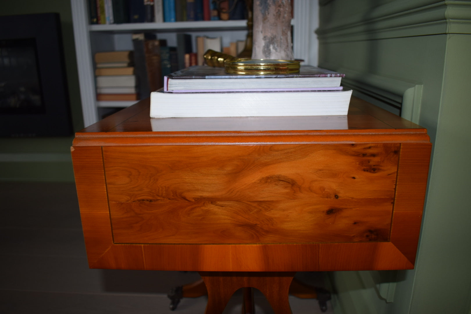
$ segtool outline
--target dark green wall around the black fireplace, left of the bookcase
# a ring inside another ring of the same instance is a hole
[[[0,1],[0,15],[60,14],[74,131],[83,128],[70,1]],[[0,138],[0,180],[73,181],[71,137]]]

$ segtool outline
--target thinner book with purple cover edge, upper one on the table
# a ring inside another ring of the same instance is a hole
[[[164,92],[246,92],[342,90],[345,74],[311,65],[301,65],[290,74],[227,74],[222,67],[195,65],[164,77]]]

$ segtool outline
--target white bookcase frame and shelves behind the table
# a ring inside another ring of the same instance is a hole
[[[312,54],[312,44],[317,47],[317,39],[313,36],[317,16],[312,17],[312,13],[317,12],[317,3],[311,2],[309,0],[294,1],[293,51],[295,58],[306,60],[307,64],[317,64],[317,55],[313,57]],[[221,36],[223,46],[228,46],[230,41],[244,40],[247,33],[245,20],[90,25],[87,0],[71,0],[71,8],[85,127],[101,119],[99,111],[124,108],[135,103],[135,101],[102,102],[96,100],[93,63],[93,56],[96,52],[132,50],[131,34],[140,31],[156,33],[159,39],[166,39],[169,46],[176,46],[177,33],[189,33],[193,40],[196,36],[202,35]],[[313,41],[316,42],[313,43]],[[195,41],[193,47],[196,47]]]

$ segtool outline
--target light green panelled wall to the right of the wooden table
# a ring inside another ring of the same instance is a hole
[[[331,273],[338,292],[335,312],[469,314],[471,1],[320,4],[319,65],[342,70],[347,77],[350,72],[360,81],[374,75],[421,84],[418,122],[434,145],[415,269],[398,271],[390,280],[392,302],[380,293],[381,285],[365,280],[365,273]]]

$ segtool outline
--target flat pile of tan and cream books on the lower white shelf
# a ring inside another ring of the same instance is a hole
[[[138,100],[133,52],[106,51],[95,54],[97,100]]]

